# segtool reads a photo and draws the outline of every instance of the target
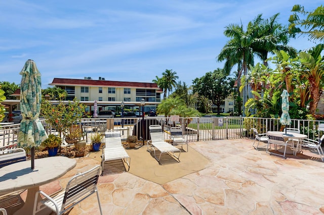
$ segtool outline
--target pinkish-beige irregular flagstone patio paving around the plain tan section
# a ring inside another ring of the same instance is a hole
[[[131,173],[100,177],[98,190],[104,214],[324,213],[324,163],[316,153],[305,151],[306,156],[283,159],[255,150],[250,139],[189,144],[211,161],[205,169],[164,184]],[[77,172],[99,164],[98,159],[90,157],[76,160],[73,170],[41,190],[53,193],[64,188]],[[167,165],[170,171],[173,165]],[[69,214],[90,213],[100,214],[95,195]]]

